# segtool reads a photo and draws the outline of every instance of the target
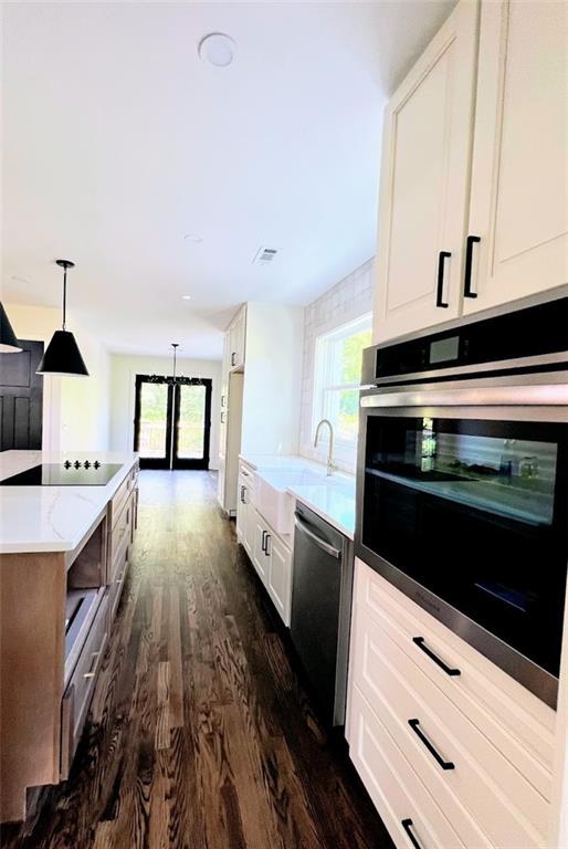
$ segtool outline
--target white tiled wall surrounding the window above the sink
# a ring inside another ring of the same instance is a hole
[[[316,338],[324,333],[340,327],[341,324],[358,318],[372,310],[372,264],[368,260],[351,274],[314,301],[305,311],[304,360],[302,367],[302,405],[299,423],[299,453],[311,460],[326,462],[327,443],[325,440],[314,449],[314,369]],[[337,465],[344,471],[355,472],[355,464]]]

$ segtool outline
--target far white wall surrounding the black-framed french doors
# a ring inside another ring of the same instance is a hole
[[[210,468],[219,468],[219,418],[221,410],[221,360],[178,359],[177,373],[207,377],[212,382]],[[111,449],[132,451],[136,375],[171,375],[171,357],[111,356]]]

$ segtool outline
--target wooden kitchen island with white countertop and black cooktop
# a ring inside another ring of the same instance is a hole
[[[40,465],[64,483],[8,483],[41,481]],[[0,821],[69,775],[124,586],[137,473],[134,453],[0,455]]]

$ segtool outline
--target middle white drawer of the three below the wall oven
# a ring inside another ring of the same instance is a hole
[[[549,804],[356,606],[354,683],[467,846],[546,845]]]

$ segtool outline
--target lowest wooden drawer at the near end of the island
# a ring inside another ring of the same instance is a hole
[[[61,777],[66,778],[95,689],[108,638],[108,591],[103,596],[61,704]]]

